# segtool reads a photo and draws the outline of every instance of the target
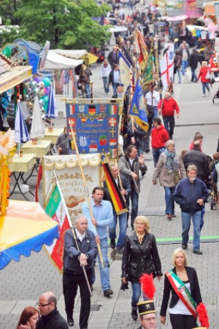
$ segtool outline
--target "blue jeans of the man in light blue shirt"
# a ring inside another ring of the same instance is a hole
[[[103,256],[103,266],[101,265],[101,260],[99,253],[98,256],[98,263],[99,263],[99,269],[101,273],[101,286],[103,291],[110,289],[110,264],[109,260],[107,258],[107,252],[108,252],[108,245],[107,245],[107,238],[101,239],[101,253]]]

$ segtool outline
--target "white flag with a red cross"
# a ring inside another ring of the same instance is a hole
[[[173,77],[173,59],[174,59],[174,45],[171,45],[168,51],[164,54],[164,57],[159,62],[160,72],[162,75],[162,82],[164,85],[164,92],[168,88],[168,84]]]

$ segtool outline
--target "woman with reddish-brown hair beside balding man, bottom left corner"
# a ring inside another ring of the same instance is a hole
[[[36,329],[36,322],[39,317],[40,313],[35,307],[25,307],[21,313],[16,329]]]

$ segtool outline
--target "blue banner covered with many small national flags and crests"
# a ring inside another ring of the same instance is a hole
[[[70,125],[77,139],[79,154],[118,153],[118,107],[120,99],[67,99],[66,119],[70,154],[75,154]]]

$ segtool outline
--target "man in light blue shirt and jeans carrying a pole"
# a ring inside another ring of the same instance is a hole
[[[92,191],[91,207],[94,219],[91,218],[88,202],[83,203],[82,212],[88,219],[88,230],[92,231],[96,238],[96,243],[101,245],[103,256],[103,267],[98,254],[99,269],[101,273],[101,286],[103,295],[108,297],[114,292],[110,287],[110,264],[107,258],[107,226],[113,223],[113,209],[109,201],[103,200],[104,188],[96,186]]]

